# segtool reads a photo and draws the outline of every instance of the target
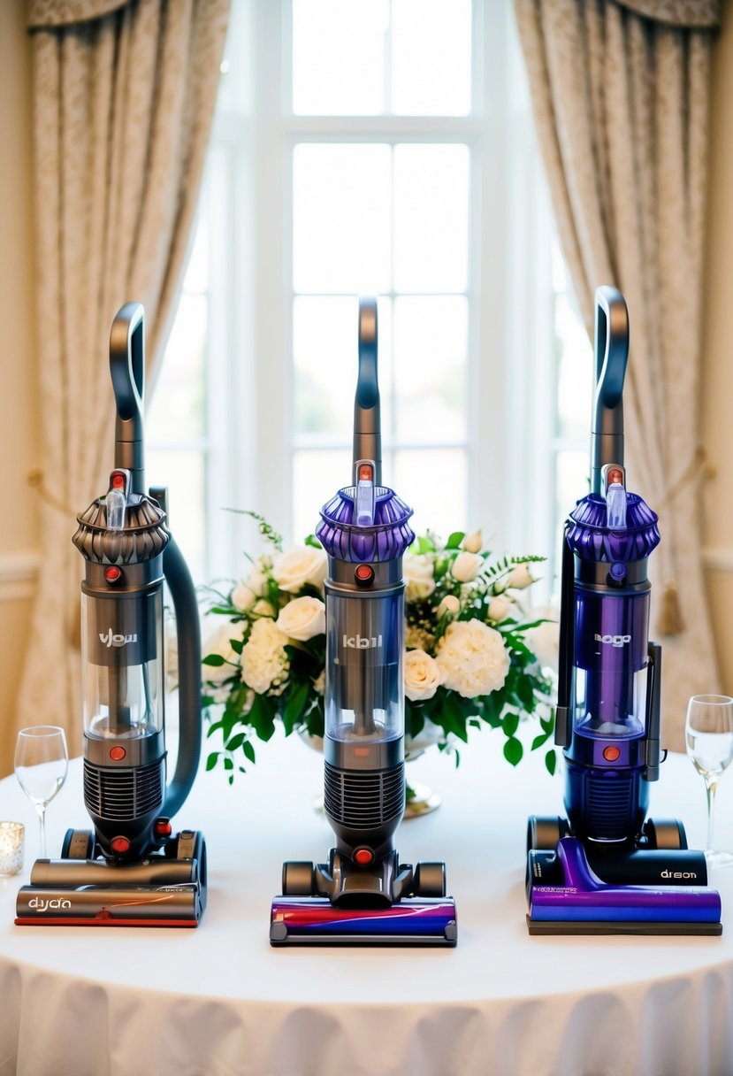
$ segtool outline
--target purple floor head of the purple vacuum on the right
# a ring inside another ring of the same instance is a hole
[[[545,884],[537,854],[530,852],[530,934],[722,933],[716,890],[607,884],[591,870],[577,837],[558,845],[562,884]]]

